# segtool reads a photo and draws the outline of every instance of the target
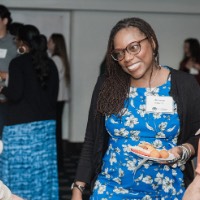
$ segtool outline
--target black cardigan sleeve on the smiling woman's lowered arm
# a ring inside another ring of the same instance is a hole
[[[94,167],[93,167],[93,154],[94,154],[94,145],[95,145],[95,137],[96,137],[96,123],[97,123],[97,118],[96,116],[96,107],[97,107],[97,98],[99,94],[100,87],[103,82],[103,77],[99,77],[98,81],[95,85],[92,99],[91,99],[91,104],[90,104],[90,109],[89,109],[89,115],[88,115],[88,122],[87,122],[87,127],[86,127],[86,132],[85,132],[85,139],[84,139],[84,144],[83,148],[81,151],[77,171],[76,171],[76,176],[75,176],[75,181],[82,181],[85,183],[90,183]]]

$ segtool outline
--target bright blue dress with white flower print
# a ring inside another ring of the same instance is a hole
[[[130,145],[141,142],[167,150],[176,146],[180,123],[175,102],[172,114],[147,113],[145,109],[146,96],[169,96],[170,88],[170,77],[153,89],[131,87],[122,117],[106,117],[109,147],[90,200],[182,199],[185,188],[179,167],[148,160],[135,170],[142,158],[130,151]]]

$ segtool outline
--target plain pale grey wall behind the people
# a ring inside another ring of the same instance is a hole
[[[99,65],[112,26],[137,16],[154,28],[160,44],[160,63],[178,67],[183,40],[200,40],[199,0],[1,0],[15,21],[33,23],[49,36],[62,32],[67,41],[72,71],[70,130],[64,115],[64,139],[81,142]],[[67,112],[67,111],[65,111]]]

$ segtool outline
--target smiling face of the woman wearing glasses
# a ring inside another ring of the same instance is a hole
[[[136,27],[121,29],[114,37],[114,48],[125,49],[132,42],[140,41],[146,36]],[[154,63],[153,49],[147,39],[141,43],[141,50],[136,55],[125,51],[123,60],[118,61],[122,69],[134,79],[140,79],[150,74]]]

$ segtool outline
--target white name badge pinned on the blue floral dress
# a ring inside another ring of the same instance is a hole
[[[174,113],[174,101],[172,97],[147,96],[146,112]]]

